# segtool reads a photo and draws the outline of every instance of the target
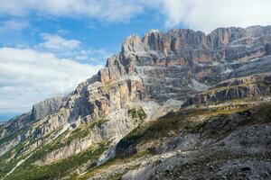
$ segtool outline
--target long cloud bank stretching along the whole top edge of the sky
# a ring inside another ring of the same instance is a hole
[[[270,0],[1,0],[0,14],[96,18],[129,21],[155,9],[168,28],[186,27],[209,32],[221,26],[271,24]]]

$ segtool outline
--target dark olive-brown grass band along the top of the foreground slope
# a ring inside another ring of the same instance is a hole
[[[257,113],[251,114],[252,112]],[[148,142],[157,144],[156,142],[159,143],[164,137],[172,137],[181,131],[184,133],[198,133],[210,129],[213,121],[216,121],[215,124],[220,124],[222,130],[210,130],[210,138],[220,139],[230,132],[231,129],[227,130],[223,124],[234,121],[229,119],[229,115],[233,113],[236,113],[239,118],[236,120],[238,122],[237,127],[255,123],[256,121],[258,123],[260,120],[266,122],[271,119],[271,104],[257,107],[233,106],[230,109],[223,106],[210,109],[182,109],[179,112],[170,112],[156,121],[141,123],[124,139],[120,140],[117,150],[120,156],[126,152],[128,152],[128,155],[133,155],[131,152],[140,153],[137,150],[142,150],[142,148],[138,147],[144,147]]]

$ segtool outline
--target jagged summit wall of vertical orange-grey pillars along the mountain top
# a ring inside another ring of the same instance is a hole
[[[253,27],[231,27],[211,31],[208,35],[202,31],[183,29],[166,33],[149,31],[142,38],[134,34],[125,40],[118,57],[126,70],[132,72],[135,65],[192,65],[242,60],[251,58],[251,54],[255,58],[262,57],[266,53],[265,45],[270,42],[270,27],[260,28],[266,33],[258,34],[258,28]]]

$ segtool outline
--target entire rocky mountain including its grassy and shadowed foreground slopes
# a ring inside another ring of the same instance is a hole
[[[151,30],[0,125],[2,179],[270,179],[271,26]]]

